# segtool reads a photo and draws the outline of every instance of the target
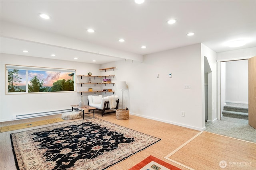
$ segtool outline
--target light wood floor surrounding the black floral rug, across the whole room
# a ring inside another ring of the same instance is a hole
[[[90,116],[91,115],[86,115],[85,118]],[[10,121],[10,122],[2,122],[0,123],[0,126],[2,127],[7,125],[13,125],[13,124],[29,123],[31,121],[40,121],[44,119],[52,119],[57,117],[61,117],[61,115],[59,114],[59,115],[37,117],[37,118],[31,118],[31,119],[22,119],[22,120]],[[186,141],[188,141],[189,139],[197,135],[199,131],[176,126],[176,125],[171,125],[168,123],[154,121],[151,119],[145,119],[145,118],[134,116],[134,115],[130,115],[130,119],[127,119],[127,120],[117,120],[115,114],[104,115],[104,117],[101,117],[100,113],[96,112],[95,117],[162,139],[160,142],[156,143],[155,145],[152,145],[147,149],[142,150],[137,154],[134,154],[130,158],[127,158],[126,160],[108,168],[108,170],[127,170],[150,155],[155,156],[161,160],[164,160],[165,162],[168,162],[174,166],[177,166],[178,168],[187,170],[187,168],[179,164],[176,164],[174,162],[171,162],[170,160],[167,160],[164,157],[170,154],[172,151],[174,151],[178,147],[180,147],[182,144],[186,143]],[[77,120],[80,120],[80,119],[75,119],[70,121],[77,121]],[[50,125],[67,123],[70,121],[53,123]],[[14,156],[12,154],[10,133],[26,131],[26,130],[46,127],[46,126],[49,126],[49,125],[43,125],[38,127],[0,133],[0,169],[1,170],[16,169]],[[176,160],[177,162],[181,162],[182,164],[185,164],[188,167],[193,167],[194,169],[198,169],[198,170],[201,170],[201,169],[203,170],[203,169],[206,169],[205,167],[208,167],[208,164],[209,164],[208,161],[211,162],[212,154],[216,156],[215,157],[216,160],[226,159],[226,161],[236,161],[236,162],[247,160],[247,162],[251,161],[253,164],[252,167],[240,167],[240,168],[250,169],[250,168],[256,167],[255,166],[256,164],[255,162],[256,144],[255,143],[239,141],[238,143],[235,143],[234,146],[232,147],[233,143],[229,141],[231,138],[228,138],[228,137],[220,138],[219,135],[215,136],[214,134],[210,134],[210,135],[209,134],[210,133],[207,133],[206,136],[203,135],[203,138],[200,136],[198,136],[199,138],[196,137],[194,139],[196,140],[196,145],[193,145],[192,147],[190,146],[191,144],[188,143],[187,145],[185,145],[185,147],[183,147],[178,152],[170,156],[170,158]],[[212,137],[212,135],[214,136]],[[233,140],[236,141],[236,139],[233,139]],[[223,145],[222,143],[224,143],[225,145]],[[228,143],[230,143],[230,146],[228,145]],[[234,151],[234,148],[238,146],[239,146],[239,150]],[[225,152],[223,152],[223,150],[220,150],[219,147],[220,148],[224,147]],[[244,152],[244,153],[240,154],[240,152]],[[246,152],[248,155],[250,155],[250,159],[248,159],[248,157],[246,156]],[[223,155],[225,155],[225,157]],[[251,160],[252,156],[254,156],[254,160]],[[216,164],[216,162],[214,162],[212,169],[222,169],[222,168],[220,168],[219,164]]]

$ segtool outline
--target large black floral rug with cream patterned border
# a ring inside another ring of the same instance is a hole
[[[10,135],[20,170],[104,170],[161,140],[97,118]]]

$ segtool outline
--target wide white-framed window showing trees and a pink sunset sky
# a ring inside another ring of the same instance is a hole
[[[76,70],[6,65],[7,94],[75,91]]]

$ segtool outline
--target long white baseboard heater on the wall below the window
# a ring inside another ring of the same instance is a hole
[[[64,109],[64,110],[56,110],[56,111],[47,111],[47,112],[40,112],[40,113],[30,113],[24,115],[12,115],[12,120],[16,119],[27,119],[32,117],[40,117],[40,116],[48,116],[48,115],[56,115],[60,113],[65,113],[72,111],[72,109]]]

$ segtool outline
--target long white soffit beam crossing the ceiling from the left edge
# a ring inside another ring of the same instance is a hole
[[[79,39],[56,35],[54,33],[40,31],[38,29],[24,27],[13,23],[1,22],[1,36],[44,45],[52,45],[54,47],[62,47],[65,49],[74,49],[85,53],[143,62],[143,55],[111,49]]]

